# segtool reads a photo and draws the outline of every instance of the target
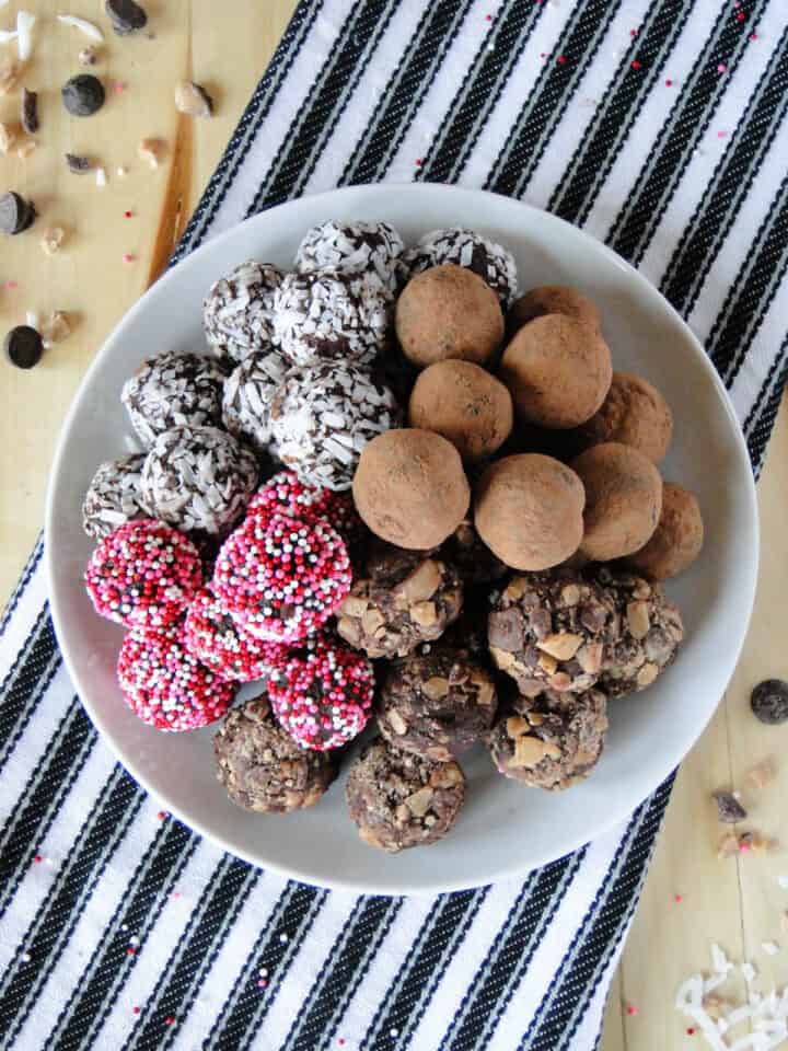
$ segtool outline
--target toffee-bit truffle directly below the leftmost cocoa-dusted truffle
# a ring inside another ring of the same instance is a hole
[[[336,611],[339,635],[369,657],[405,657],[440,638],[460,615],[460,577],[442,559],[392,548],[370,569]]]

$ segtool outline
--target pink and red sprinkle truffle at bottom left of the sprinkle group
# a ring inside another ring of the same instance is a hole
[[[196,730],[220,719],[235,686],[200,663],[183,624],[163,632],[135,628],[120,647],[117,677],[129,707],[158,730]]]

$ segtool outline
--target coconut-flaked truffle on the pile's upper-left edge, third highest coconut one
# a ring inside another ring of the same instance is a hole
[[[274,292],[282,276],[270,263],[250,259],[211,286],[202,304],[206,338],[219,358],[243,361],[274,337]]]

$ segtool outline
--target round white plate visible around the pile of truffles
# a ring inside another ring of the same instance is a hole
[[[142,358],[205,346],[210,284],[256,257],[288,268],[323,219],[385,219],[414,241],[471,226],[514,254],[522,288],[576,285],[600,307],[616,368],[659,386],[675,416],[664,474],[694,489],[706,521],[700,559],[668,589],[686,623],[679,661],[645,693],[611,704],[611,731],[591,777],[565,793],[524,788],[477,749],[463,761],[462,815],[443,841],[390,856],[364,845],[345,809],[343,778],[321,802],[287,818],[247,813],[213,773],[213,728],[161,734],[142,725],[115,682],[121,631],[93,612],[82,585],[92,550],[82,496],[102,460],[127,451],[119,402]],[[675,311],[604,245],[546,212],[491,194],[438,185],[358,186],[294,200],[210,241],[134,307],[96,356],[60,437],[47,507],[51,610],[74,685],[120,762],[195,831],[250,862],[311,883],[371,893],[455,890],[521,874],[624,818],[680,762],[733,672],[751,612],[757,520],[746,449],[717,373]]]

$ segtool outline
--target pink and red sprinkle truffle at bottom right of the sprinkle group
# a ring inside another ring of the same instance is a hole
[[[322,639],[293,655],[268,682],[274,712],[302,748],[341,748],[361,732],[372,709],[374,672],[355,650]]]

